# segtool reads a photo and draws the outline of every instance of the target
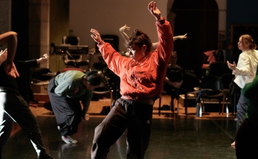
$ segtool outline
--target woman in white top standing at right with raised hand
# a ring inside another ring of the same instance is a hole
[[[228,67],[233,70],[232,74],[236,76],[234,82],[243,89],[245,84],[252,82],[256,75],[257,64],[258,64],[258,51],[254,40],[250,35],[241,35],[239,42],[237,43],[238,49],[242,51],[239,55],[237,65],[235,62],[230,64],[227,61]],[[245,120],[245,113],[248,107],[248,103],[245,101],[243,94],[241,93],[240,99],[237,104],[237,122],[238,128]],[[231,144],[235,146],[235,142]]]

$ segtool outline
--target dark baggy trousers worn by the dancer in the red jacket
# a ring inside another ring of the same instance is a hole
[[[95,128],[92,159],[106,159],[109,147],[127,132],[127,159],[143,159],[149,146],[153,105],[118,99],[107,117]]]

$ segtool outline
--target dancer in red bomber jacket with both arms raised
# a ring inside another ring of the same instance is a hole
[[[127,133],[127,158],[144,158],[149,145],[154,101],[161,97],[162,84],[173,47],[172,29],[161,16],[155,2],[148,5],[156,18],[159,36],[157,50],[151,52],[152,43],[142,31],[135,29],[126,47],[130,58],[116,52],[101,40],[98,31],[91,29],[105,62],[121,79],[120,94],[107,117],[95,128],[92,158],[107,158],[109,147]]]

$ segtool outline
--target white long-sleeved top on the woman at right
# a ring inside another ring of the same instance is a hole
[[[252,82],[256,75],[258,64],[258,51],[248,50],[239,55],[236,70],[232,74],[237,75],[234,82],[244,88],[246,83]]]

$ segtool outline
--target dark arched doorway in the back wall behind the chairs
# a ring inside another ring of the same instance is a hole
[[[175,41],[178,65],[185,70],[195,70],[201,77],[205,51],[218,48],[219,10],[215,0],[175,0],[168,20],[172,24],[173,34],[184,35],[187,40]]]

